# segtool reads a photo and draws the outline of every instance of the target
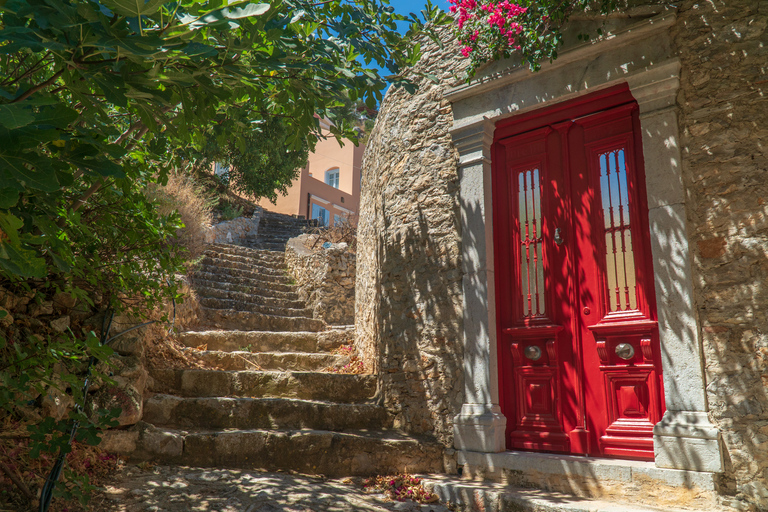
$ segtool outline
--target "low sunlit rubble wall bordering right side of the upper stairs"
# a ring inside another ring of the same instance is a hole
[[[299,298],[312,309],[313,318],[330,325],[352,325],[355,253],[343,242],[327,242],[313,248],[316,238],[317,235],[301,235],[291,238],[285,247],[285,264],[299,286]]]

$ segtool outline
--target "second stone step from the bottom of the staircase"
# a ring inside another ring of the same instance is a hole
[[[204,429],[359,430],[391,426],[375,404],[292,398],[184,398],[157,394],[144,402],[143,420],[155,426]]]

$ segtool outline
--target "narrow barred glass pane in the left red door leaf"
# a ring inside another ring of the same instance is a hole
[[[539,170],[518,174],[518,205],[520,219],[520,290],[523,316],[543,316],[544,262],[541,239],[541,183]]]

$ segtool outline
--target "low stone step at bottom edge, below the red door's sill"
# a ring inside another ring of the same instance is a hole
[[[473,482],[459,477],[425,477],[424,485],[443,503],[461,512],[691,512],[725,511],[723,508],[676,508],[627,503],[617,493],[615,500],[579,498],[538,489],[509,487],[491,482]]]

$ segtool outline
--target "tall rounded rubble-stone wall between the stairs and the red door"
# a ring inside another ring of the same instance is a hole
[[[441,80],[390,89],[363,158],[355,324],[395,426],[453,444],[463,394],[458,156],[443,98],[458,53],[424,45],[418,69]]]

